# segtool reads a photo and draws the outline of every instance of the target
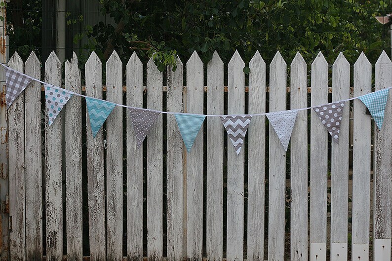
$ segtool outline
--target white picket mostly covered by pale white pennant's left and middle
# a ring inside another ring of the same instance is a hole
[[[270,65],[270,112],[286,110],[286,62],[277,52]],[[268,259],[284,260],[286,151],[270,124]]]

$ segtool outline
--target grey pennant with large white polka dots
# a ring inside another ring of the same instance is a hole
[[[340,123],[345,102],[334,102],[314,107],[314,112],[336,143],[339,142]]]

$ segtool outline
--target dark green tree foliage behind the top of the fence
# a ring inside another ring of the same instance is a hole
[[[17,2],[23,1],[32,2]],[[8,31],[19,52],[39,48],[40,0],[33,2],[24,23]],[[133,51],[142,59],[153,56],[161,71],[166,65],[175,68],[176,55],[184,61],[194,50],[204,62],[215,50],[228,62],[237,49],[245,61],[256,50],[266,60],[279,50],[287,62],[297,51],[308,62],[318,51],[328,61],[342,51],[353,63],[361,51],[374,62],[381,49],[389,49],[389,27],[374,19],[389,12],[382,0],[100,0],[100,6],[116,25],[87,25],[74,42],[87,37],[82,48],[96,51],[103,61],[114,49],[124,62]]]

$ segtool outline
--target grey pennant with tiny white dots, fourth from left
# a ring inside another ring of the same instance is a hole
[[[140,109],[129,108],[129,115],[132,120],[133,130],[135,131],[136,144],[139,149],[142,146],[147,133],[157,120],[160,112]]]

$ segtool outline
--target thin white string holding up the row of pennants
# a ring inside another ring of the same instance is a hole
[[[13,70],[12,68],[9,68],[8,66],[5,66],[4,64],[1,64],[1,65],[2,65],[3,67],[7,68],[8,70],[17,72],[18,74],[21,74],[21,75],[25,75],[25,74],[22,74],[22,73],[20,73],[20,72],[18,72],[18,71],[16,71],[16,70]],[[35,80],[35,81],[38,81],[38,82],[44,84],[44,85],[50,85],[50,86],[54,86],[54,87],[60,88],[60,87],[58,87],[58,86],[55,86],[55,85],[53,85],[53,84],[50,84],[50,83],[41,81],[41,80],[36,79],[36,78],[34,78],[34,77],[31,77],[31,76],[29,76],[29,75],[26,75],[26,76],[32,78],[32,79]],[[388,87],[388,88],[385,88],[384,90],[389,90],[389,89],[391,89],[391,88],[392,88],[392,86],[391,86],[391,87]],[[84,97],[84,98],[91,98],[91,99],[96,99],[96,100],[101,100],[101,101],[104,101],[104,102],[108,102],[108,101],[106,101],[106,100],[102,100],[102,99],[98,99],[98,98],[93,98],[93,97],[85,96],[85,95],[83,95],[83,94],[75,93],[75,92],[73,92],[73,91],[69,91],[69,90],[67,90],[67,91],[68,91],[69,93],[71,93],[72,95],[76,95],[76,96],[80,96],[80,97]],[[334,103],[352,101],[352,100],[358,99],[358,97],[361,97],[361,96],[357,96],[357,97],[353,97],[353,98],[345,99],[345,100],[334,101]],[[124,107],[124,108],[128,108],[128,109],[143,109],[143,108],[138,108],[138,107],[126,106],[126,105],[118,104],[118,103],[115,103],[115,104],[116,104],[116,106],[120,106],[120,107]],[[323,104],[320,104],[320,105],[323,105]],[[299,108],[299,109],[295,109],[295,110],[297,110],[297,111],[305,111],[305,110],[309,110],[309,109],[314,109],[314,108],[316,108],[316,107],[319,107],[320,105],[315,105],[315,106],[311,106],[311,107],[307,107],[307,108]],[[159,113],[163,113],[163,114],[187,114],[187,115],[192,114],[192,115],[199,115],[199,116],[205,116],[205,117],[221,117],[221,116],[228,116],[228,115],[224,115],[224,114],[216,114],[216,115],[214,115],[214,114],[209,114],[209,115],[208,115],[208,114],[197,114],[197,113],[186,113],[186,112],[163,112],[163,111],[157,111],[157,110],[152,110],[152,109],[144,109],[144,110],[148,110],[148,111],[151,111],[151,112],[159,112]],[[285,112],[285,111],[282,111],[282,112]],[[266,115],[266,114],[267,114],[267,112],[265,112],[265,113],[254,113],[254,114],[243,114],[243,115],[249,115],[249,116],[252,116],[252,117],[253,117],[253,116]]]

